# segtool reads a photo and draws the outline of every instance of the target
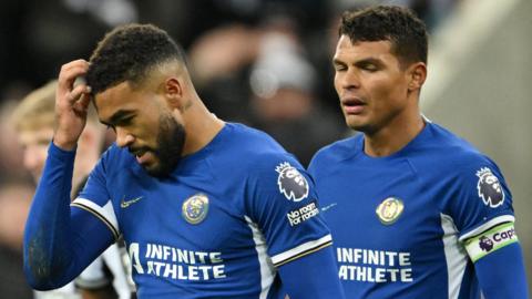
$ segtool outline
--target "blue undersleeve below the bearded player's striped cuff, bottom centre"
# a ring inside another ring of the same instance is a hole
[[[279,275],[290,299],[345,298],[332,246],[283,265]]]

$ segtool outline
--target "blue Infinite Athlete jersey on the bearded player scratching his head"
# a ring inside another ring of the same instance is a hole
[[[166,178],[113,145],[72,205],[123,236],[141,298],[284,298],[276,267],[331,243],[299,163],[239,124]]]

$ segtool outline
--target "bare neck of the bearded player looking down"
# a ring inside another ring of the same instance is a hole
[[[186,140],[182,155],[190,155],[205,147],[224,125],[224,121],[211,113],[200,99],[195,101],[185,125]]]

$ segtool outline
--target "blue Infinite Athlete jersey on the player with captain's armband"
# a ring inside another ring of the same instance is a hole
[[[309,173],[347,298],[480,298],[472,261],[495,248],[467,241],[504,223],[495,241],[513,238],[497,165],[432,123],[387,157],[367,156],[361,134],[339,141]]]

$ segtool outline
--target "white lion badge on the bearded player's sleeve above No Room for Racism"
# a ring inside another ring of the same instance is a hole
[[[277,185],[279,192],[285,195],[288,200],[300,202],[308,196],[308,182],[299,171],[293,167],[288,162],[284,162],[275,167],[279,173]]]

